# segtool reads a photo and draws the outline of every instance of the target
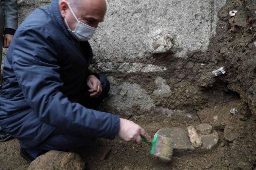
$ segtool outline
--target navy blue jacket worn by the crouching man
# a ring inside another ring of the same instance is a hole
[[[113,139],[117,115],[87,109],[83,95],[92,50],[69,34],[58,0],[36,9],[18,27],[5,58],[0,126],[22,148],[41,143],[56,128],[66,133]]]

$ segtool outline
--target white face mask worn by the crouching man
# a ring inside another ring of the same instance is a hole
[[[73,16],[76,18],[76,15],[75,15],[74,11],[72,10],[72,8],[70,7],[70,5],[68,5],[68,7],[69,7],[71,13],[73,14]],[[66,18],[64,18],[64,20],[66,22],[66,25],[68,26],[68,22],[66,21]],[[68,26],[68,31],[70,32],[70,34],[74,38],[76,38],[76,40],[78,40],[78,41],[88,41],[89,39],[91,39],[96,28],[88,26],[81,21],[78,21],[77,18],[76,18],[76,21],[77,21],[77,24],[73,31]]]

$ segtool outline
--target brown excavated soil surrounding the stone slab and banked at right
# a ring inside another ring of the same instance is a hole
[[[152,79],[157,76],[166,79],[173,94],[167,98],[153,98],[156,106],[180,109],[189,112],[190,116],[167,117],[154,111],[120,116],[138,123],[151,136],[164,127],[210,123],[219,135],[219,142],[211,151],[174,151],[172,162],[164,163],[149,154],[150,146],[146,143],[139,148],[119,138],[100,139],[80,153],[86,169],[256,170],[256,28],[250,20],[256,17],[254,4],[254,0],[227,1],[219,13],[216,35],[207,51],[191,51],[188,58],[163,54],[139,61],[168,67],[167,72],[152,73],[150,77],[146,74],[112,75],[116,79],[139,83],[149,94],[156,88]],[[230,23],[228,12],[235,9],[246,16],[245,25]],[[223,66],[226,74],[211,75],[211,71]],[[233,108],[238,112],[231,114]],[[105,107],[102,110],[111,112]],[[229,134],[224,135],[226,126]],[[228,141],[231,133],[237,134],[237,138]],[[99,160],[106,147],[111,148],[109,156]],[[29,163],[19,156],[18,140],[0,143],[0,170],[25,170],[28,166]]]

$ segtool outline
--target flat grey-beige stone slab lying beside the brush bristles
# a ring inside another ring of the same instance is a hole
[[[199,133],[197,134],[198,137],[201,138],[201,147],[198,148],[195,148],[192,145],[185,128],[162,128],[157,132],[157,134],[165,136],[167,138],[172,138],[175,144],[174,148],[177,150],[209,150],[212,149],[219,141],[218,133],[215,130],[212,130],[212,133],[208,135],[201,135]]]

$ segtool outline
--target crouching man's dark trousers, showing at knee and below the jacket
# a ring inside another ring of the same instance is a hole
[[[79,103],[85,107],[95,109],[100,102],[107,96],[110,89],[109,80],[106,77],[100,76],[100,82],[102,84],[102,93],[96,98],[89,96],[89,93],[84,98],[79,99]],[[89,88],[88,88],[89,90]],[[46,138],[41,144],[34,148],[26,149],[34,159],[40,154],[51,151],[71,151],[78,148],[84,148],[89,143],[94,141],[95,138],[84,135],[76,135],[74,133],[65,133],[60,129],[56,129],[48,138]]]

